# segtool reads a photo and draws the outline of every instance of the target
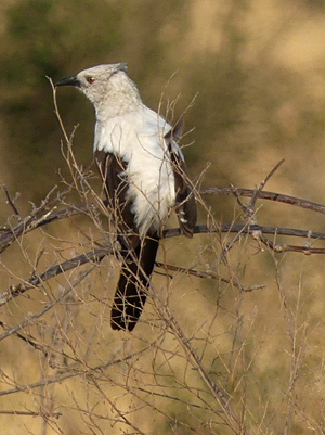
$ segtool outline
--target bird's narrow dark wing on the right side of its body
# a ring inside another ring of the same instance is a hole
[[[169,150],[174,175],[176,213],[183,234],[192,238],[197,220],[197,209],[183,153],[176,142],[181,136],[180,129],[182,129],[181,121],[177,123],[176,127],[165,135],[165,141]]]

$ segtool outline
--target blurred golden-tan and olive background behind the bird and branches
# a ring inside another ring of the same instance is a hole
[[[203,185],[253,189],[285,158],[266,190],[325,203],[323,1],[13,0],[0,8],[0,181],[12,197],[21,192],[21,217],[54,184],[62,191],[63,180],[74,188],[46,213],[96,203],[90,188],[99,192],[99,180],[74,184],[76,167],[62,156],[44,76],[118,61],[129,62],[152,107],[164,93],[165,111],[181,93],[176,117],[198,92],[185,117],[195,130],[183,143],[195,140],[185,149],[193,178],[210,162]],[[87,166],[91,107],[74,91],[60,93],[58,105],[68,135],[80,123],[73,150]],[[14,227],[20,218],[5,201],[2,190],[2,226]],[[245,222],[235,197],[205,195],[199,207],[200,223]],[[260,200],[257,209],[260,225],[325,232],[321,214]],[[219,279],[169,271],[170,279],[157,268],[162,274],[132,333],[109,329],[113,256],[4,304],[1,333],[25,323],[0,345],[2,433],[323,434],[324,254],[278,254],[243,235],[220,261],[235,236],[166,239],[159,261]],[[1,291],[112,240],[107,216],[93,209],[34,230],[1,254]],[[244,292],[238,283],[263,287]]]

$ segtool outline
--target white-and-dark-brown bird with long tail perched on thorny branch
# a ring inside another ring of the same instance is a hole
[[[110,325],[132,331],[146,302],[167,218],[174,209],[181,232],[192,238],[197,209],[178,144],[182,120],[172,127],[147,107],[127,71],[127,63],[98,65],[54,86],[76,87],[95,110],[94,161],[122,263]]]

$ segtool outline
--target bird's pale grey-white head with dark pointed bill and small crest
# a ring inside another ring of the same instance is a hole
[[[126,63],[105,64],[83,69],[76,76],[58,80],[56,86],[75,86],[94,104],[96,110],[103,104],[116,104],[126,97],[140,100],[135,84],[127,76]]]

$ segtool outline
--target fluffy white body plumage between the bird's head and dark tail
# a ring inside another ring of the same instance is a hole
[[[113,152],[128,162],[128,197],[141,235],[159,230],[176,201],[174,176],[164,139],[170,128],[145,106],[96,124],[95,150]]]

